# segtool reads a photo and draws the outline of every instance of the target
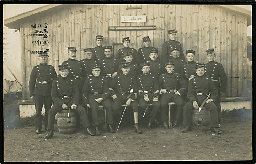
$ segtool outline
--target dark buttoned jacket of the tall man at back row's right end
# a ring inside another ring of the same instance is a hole
[[[161,63],[165,63],[167,61],[169,55],[171,55],[171,47],[177,46],[180,49],[180,57],[182,60],[185,60],[183,49],[181,47],[181,43],[175,40],[168,40],[167,42],[164,42],[162,46],[162,52],[160,56]]]

